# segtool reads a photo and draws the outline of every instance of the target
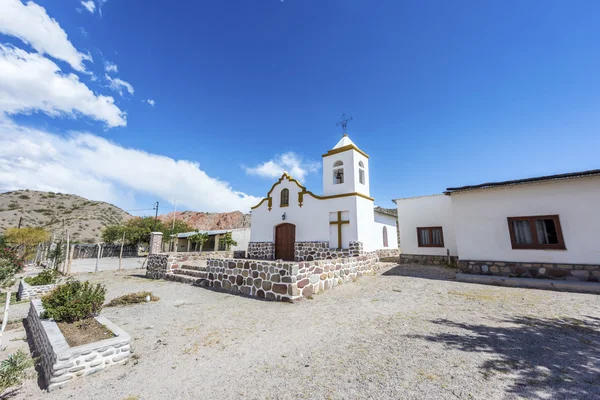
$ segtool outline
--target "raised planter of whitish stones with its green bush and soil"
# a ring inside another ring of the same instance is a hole
[[[98,315],[106,289],[70,280],[31,300],[27,327],[49,391],[130,356],[130,336]]]

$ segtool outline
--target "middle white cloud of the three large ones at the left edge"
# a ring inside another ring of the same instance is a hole
[[[0,44],[0,115],[34,111],[72,118],[83,114],[109,127],[127,124],[112,97],[96,95],[75,74],[63,74],[39,54]]]

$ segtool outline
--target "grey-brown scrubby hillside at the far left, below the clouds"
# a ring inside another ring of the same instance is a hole
[[[59,237],[64,227],[71,240],[82,243],[100,241],[102,228],[129,218],[119,207],[101,201],[90,201],[73,194],[17,190],[0,193],[0,233],[21,226],[39,226],[54,231]]]

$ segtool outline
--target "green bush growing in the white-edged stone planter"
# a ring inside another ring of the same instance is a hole
[[[42,305],[46,309],[42,317],[57,322],[92,318],[102,310],[105,296],[106,288],[103,285],[70,280],[42,297]]]

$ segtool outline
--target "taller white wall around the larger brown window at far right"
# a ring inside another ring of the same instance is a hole
[[[451,197],[463,260],[600,264],[600,177],[458,192]],[[507,217],[550,214],[559,215],[567,250],[512,249]],[[402,231],[400,235],[403,240]]]

